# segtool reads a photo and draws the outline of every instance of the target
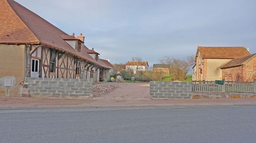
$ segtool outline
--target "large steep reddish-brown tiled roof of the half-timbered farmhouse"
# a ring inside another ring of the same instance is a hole
[[[47,47],[68,52],[99,66],[109,68],[104,62],[97,62],[90,57],[86,53],[88,48],[85,45],[81,46],[81,53],[77,52],[63,40],[62,36],[71,37],[70,35],[19,3],[13,0],[0,0],[0,13],[0,43],[40,43]]]

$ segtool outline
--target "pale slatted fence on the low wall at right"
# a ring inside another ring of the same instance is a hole
[[[256,81],[224,81],[224,85],[215,81],[192,81],[192,92],[256,92]]]

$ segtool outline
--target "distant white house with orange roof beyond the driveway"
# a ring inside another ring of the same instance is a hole
[[[127,62],[125,64],[126,70],[133,70],[133,73],[136,74],[138,71],[147,71],[148,63],[146,62]]]

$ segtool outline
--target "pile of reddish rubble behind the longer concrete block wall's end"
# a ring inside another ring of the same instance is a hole
[[[115,86],[111,84],[95,84],[93,85],[93,94],[106,94],[112,92],[114,89]]]

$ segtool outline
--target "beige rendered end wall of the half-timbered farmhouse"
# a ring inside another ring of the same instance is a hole
[[[0,95],[20,96],[25,71],[24,49],[25,45],[0,44]],[[13,79],[13,86],[4,86],[4,79]]]

